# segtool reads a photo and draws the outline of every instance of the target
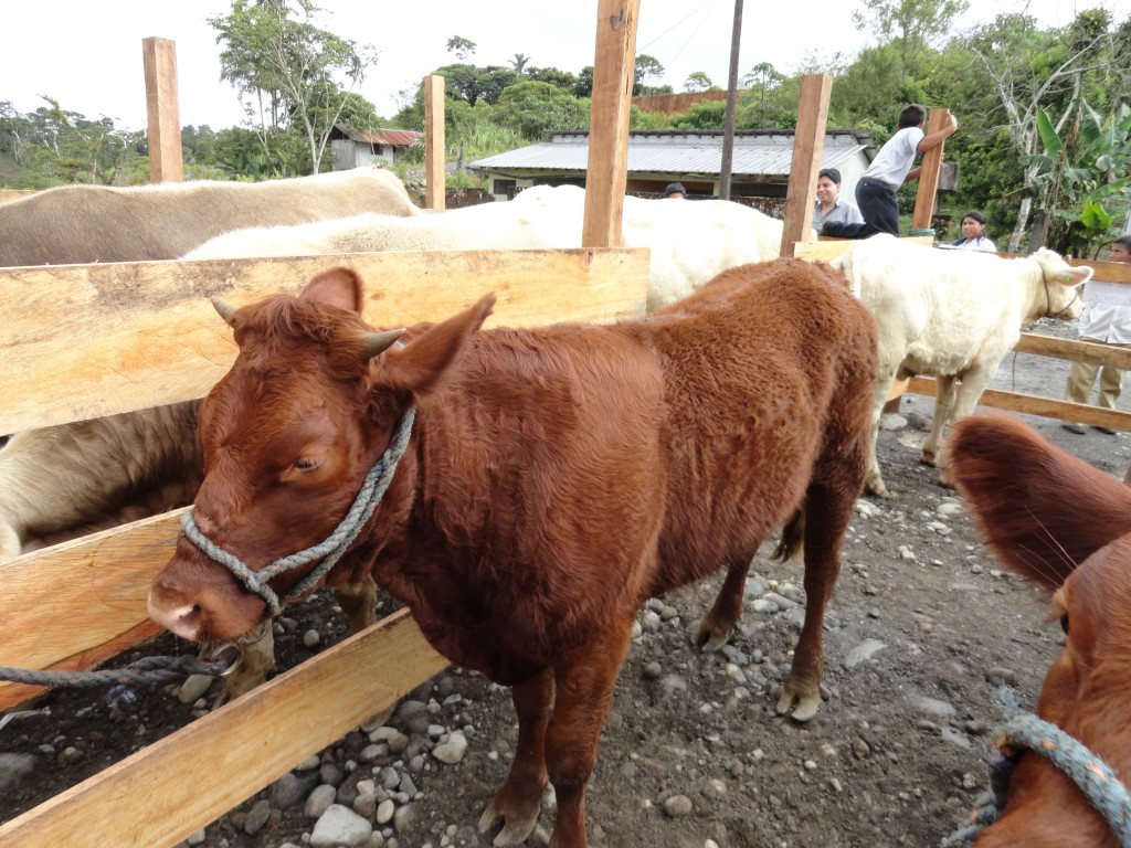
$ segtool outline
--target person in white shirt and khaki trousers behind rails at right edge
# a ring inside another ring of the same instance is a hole
[[[1113,262],[1131,262],[1131,235],[1122,235],[1112,242],[1108,259]],[[1085,286],[1083,312],[1080,314],[1080,338],[1113,347],[1131,347],[1131,287],[1114,283],[1091,282]],[[1114,409],[1123,389],[1122,369],[1097,365],[1094,362],[1073,362],[1064,387],[1064,399],[1074,404],[1087,404],[1091,386],[1099,371],[1099,398],[1096,406]],[[1067,421],[1061,424],[1072,433],[1083,433],[1083,425]],[[1115,435],[1115,431],[1100,424],[1093,430]]]

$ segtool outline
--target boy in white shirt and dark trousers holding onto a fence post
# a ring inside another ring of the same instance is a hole
[[[898,130],[872,159],[864,175],[856,183],[856,206],[864,216],[863,224],[832,222],[821,228],[822,235],[837,239],[866,239],[877,233],[899,235],[899,201],[896,191],[905,180],[917,180],[918,168],[912,168],[915,156],[938,147],[958,129],[958,119],[941,130],[924,135],[926,109],[913,103],[899,113]]]

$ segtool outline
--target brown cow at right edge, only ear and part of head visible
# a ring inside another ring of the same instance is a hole
[[[1131,775],[1131,490],[1004,415],[964,418],[949,450],[955,483],[986,544],[1008,568],[1051,594],[1064,629],[1037,716],[1125,780]],[[1009,778],[998,821],[974,845],[1126,842],[1063,772],[1027,751]]]

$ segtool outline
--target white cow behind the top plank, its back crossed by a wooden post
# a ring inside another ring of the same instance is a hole
[[[416,218],[360,215],[222,235],[184,259],[317,256],[415,250],[534,250],[581,246],[585,190],[536,185],[507,204]],[[648,311],[691,294],[727,268],[776,259],[783,224],[727,200],[625,197],[621,245],[649,248]]]

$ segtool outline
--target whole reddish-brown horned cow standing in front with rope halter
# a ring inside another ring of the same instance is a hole
[[[240,353],[201,405],[205,481],[185,513],[210,554],[181,536],[150,588],[156,622],[205,642],[254,630],[274,592],[309,590],[296,585],[311,565],[258,594],[253,572],[309,560],[379,470],[383,499],[322,579],[371,573],[441,654],[513,686],[518,754],[481,829],[504,820],[497,843],[525,839],[549,778],[550,843],[577,848],[639,607],[725,566],[697,634],[722,647],[751,557],[788,520],[809,603],[777,709],[817,711],[875,379],[875,326],[844,280],[800,260],[749,265],[640,320],[481,331],[489,295],[397,347],[400,331],[362,322],[362,300],[338,268],[297,298],[222,309]],[[250,571],[238,580],[209,556]]]

